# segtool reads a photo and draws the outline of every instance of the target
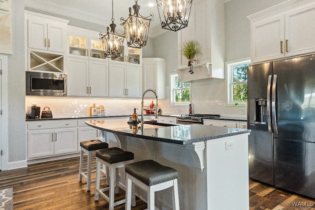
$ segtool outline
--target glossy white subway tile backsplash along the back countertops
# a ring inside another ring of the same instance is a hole
[[[149,106],[151,102],[156,103],[156,99],[145,99],[144,105]],[[137,113],[141,114],[141,99],[90,99],[90,98],[49,98],[49,97],[26,97],[27,106],[37,104],[41,106],[41,111],[45,106],[50,107],[54,117],[88,117],[90,116],[90,106],[105,107],[106,116],[131,115],[133,108],[138,108]],[[197,114],[220,114],[225,117],[247,116],[246,106],[226,106],[225,103],[217,101],[192,101],[192,113]],[[188,114],[189,105],[172,106],[169,100],[158,100],[162,115]]]

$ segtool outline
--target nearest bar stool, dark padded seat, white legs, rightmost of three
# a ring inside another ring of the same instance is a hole
[[[132,182],[148,193],[148,210],[155,209],[155,192],[173,186],[173,210],[179,210],[178,172],[153,160],[144,160],[126,165],[126,210],[130,210]],[[132,186],[134,187],[134,186]]]

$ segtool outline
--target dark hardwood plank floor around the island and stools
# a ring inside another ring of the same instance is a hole
[[[93,161],[95,169],[95,160]],[[106,210],[102,198],[94,201],[95,184],[86,191],[86,181],[78,180],[79,158],[29,165],[27,168],[0,172],[0,189],[13,187],[15,210]],[[315,210],[315,199],[267,186],[250,179],[250,210]],[[123,190],[115,200],[125,197]],[[296,202],[293,206],[292,202]],[[133,210],[147,208],[137,199]],[[120,205],[115,210],[124,210]],[[231,205],[231,210],[233,206]]]

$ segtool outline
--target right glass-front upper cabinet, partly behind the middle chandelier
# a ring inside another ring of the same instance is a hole
[[[122,48],[120,57],[112,58],[111,61],[114,62],[126,62],[134,65],[142,65],[142,49],[128,47],[126,40],[124,41],[124,46]]]

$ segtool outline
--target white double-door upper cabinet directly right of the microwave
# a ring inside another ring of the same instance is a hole
[[[108,61],[68,57],[67,96],[108,97]]]

